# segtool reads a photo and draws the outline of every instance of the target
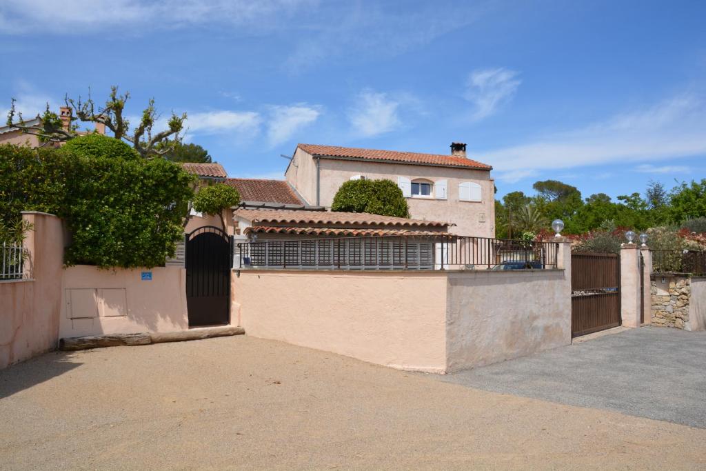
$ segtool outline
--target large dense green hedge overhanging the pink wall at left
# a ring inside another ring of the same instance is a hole
[[[193,178],[162,159],[2,145],[0,220],[16,224],[20,210],[62,217],[72,234],[67,265],[160,266],[183,234]]]

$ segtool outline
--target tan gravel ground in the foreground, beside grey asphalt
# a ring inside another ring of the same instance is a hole
[[[706,467],[704,429],[244,335],[12,366],[0,424],[2,469]]]

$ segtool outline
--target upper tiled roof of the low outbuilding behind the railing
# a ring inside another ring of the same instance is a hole
[[[368,213],[337,213],[333,211],[239,209],[234,212],[234,215],[249,220],[253,225],[258,225],[259,222],[296,224],[299,227],[312,224],[395,227],[447,227],[450,225],[448,222],[424,221]]]

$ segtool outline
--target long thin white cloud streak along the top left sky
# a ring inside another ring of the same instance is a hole
[[[273,28],[277,20],[311,0],[55,0],[6,2],[0,8],[0,32],[42,30],[59,34],[104,32],[106,28],[139,30],[184,25],[229,24]]]

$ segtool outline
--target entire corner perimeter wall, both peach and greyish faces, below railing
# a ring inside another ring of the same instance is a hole
[[[565,270],[236,270],[248,335],[398,369],[444,373],[571,342]]]

